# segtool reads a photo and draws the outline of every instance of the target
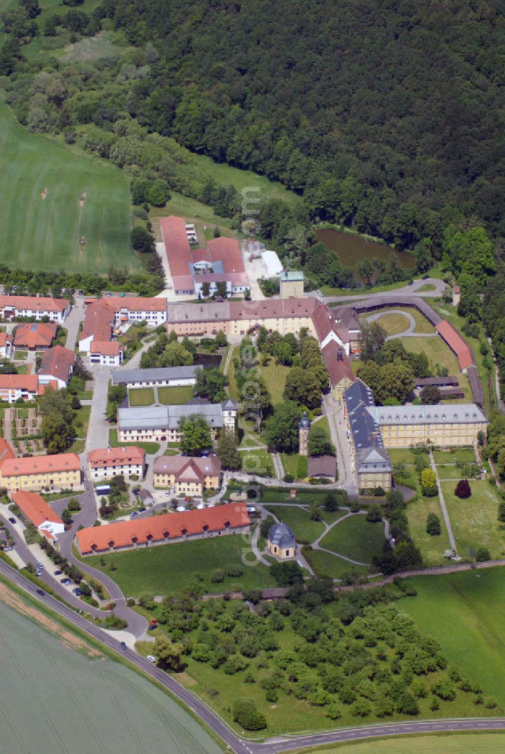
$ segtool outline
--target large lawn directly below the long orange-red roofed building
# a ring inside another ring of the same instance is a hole
[[[134,596],[177,592],[196,573],[202,575],[202,584],[208,592],[230,590],[231,584],[240,584],[245,589],[275,586],[266,566],[261,563],[250,567],[243,565],[244,547],[247,544],[239,535],[214,536],[125,553],[90,556],[83,561],[109,574],[123,593]],[[100,565],[103,561],[105,566]],[[223,583],[213,584],[211,572],[232,563],[244,569],[242,576],[226,576]],[[111,564],[115,566],[114,571],[110,570]]]

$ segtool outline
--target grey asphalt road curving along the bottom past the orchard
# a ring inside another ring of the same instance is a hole
[[[94,636],[95,639],[102,642],[114,651],[122,654],[119,648],[119,642],[112,636],[104,634],[99,628],[95,627],[81,615],[76,615],[66,605],[62,605],[57,599],[46,595],[39,596],[36,587],[23,576],[11,569],[7,563],[0,561],[0,573],[6,578],[13,581],[27,593],[31,594],[39,602],[48,605],[52,610],[66,618],[67,621],[78,626],[86,633]],[[419,734],[437,731],[500,731],[505,730],[505,718],[476,718],[476,719],[448,719],[448,720],[426,720],[423,722],[396,722],[378,725],[365,725],[357,728],[345,728],[336,731],[326,731],[322,733],[313,733],[301,736],[282,737],[266,740],[264,743],[254,743],[234,734],[229,730],[227,725],[215,715],[205,703],[198,697],[181,686],[172,676],[169,676],[163,670],[159,670],[145,657],[140,654],[127,651],[125,654],[128,661],[139,667],[153,679],[156,679],[168,691],[171,691],[175,697],[182,701],[192,710],[208,728],[211,728],[226,743],[229,748],[237,752],[251,752],[251,754],[277,754],[277,752],[292,751],[293,749],[302,749],[305,746],[321,746],[322,744],[336,743],[339,741],[363,740],[377,736],[391,736],[394,734]]]

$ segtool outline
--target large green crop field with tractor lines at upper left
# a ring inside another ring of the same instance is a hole
[[[0,262],[33,270],[99,273],[113,262],[115,267],[142,270],[130,246],[125,173],[29,133],[2,98],[0,154]]]

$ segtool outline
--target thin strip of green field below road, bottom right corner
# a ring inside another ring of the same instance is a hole
[[[501,754],[505,733],[443,733],[405,735],[303,749],[304,754]]]

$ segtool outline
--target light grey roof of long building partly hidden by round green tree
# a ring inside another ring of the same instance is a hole
[[[223,427],[220,403],[200,406],[134,406],[118,409],[120,430],[177,429],[181,418],[197,414],[203,416],[211,428]]]

